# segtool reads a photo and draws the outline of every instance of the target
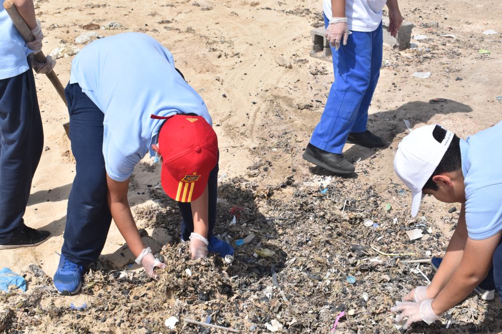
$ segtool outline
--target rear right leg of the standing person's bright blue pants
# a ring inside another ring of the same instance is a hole
[[[380,77],[380,68],[382,66],[382,49],[383,49],[383,31],[382,23],[372,33],[372,47],[371,47],[371,80],[369,81],[368,89],[364,94],[357,116],[350,132],[364,132],[366,131],[366,124],[368,121],[368,108],[371,103],[371,98]]]

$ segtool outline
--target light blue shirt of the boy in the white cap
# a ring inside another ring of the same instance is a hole
[[[486,239],[502,230],[502,122],[460,139],[469,238]]]

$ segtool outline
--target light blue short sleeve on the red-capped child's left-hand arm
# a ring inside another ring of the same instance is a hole
[[[106,174],[117,182],[128,180],[134,172],[134,168],[140,162],[140,154],[133,153],[124,155],[113,143],[112,138],[107,136],[107,127],[104,127],[103,156]]]

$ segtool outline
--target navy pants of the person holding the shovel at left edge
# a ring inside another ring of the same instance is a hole
[[[23,216],[43,145],[42,119],[30,67],[22,74],[0,80],[0,243],[11,241],[24,227]]]

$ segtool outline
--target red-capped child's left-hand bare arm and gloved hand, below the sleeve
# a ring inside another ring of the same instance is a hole
[[[108,206],[110,207],[111,216],[115,221],[118,231],[120,231],[120,234],[126,240],[133,255],[136,258],[140,257],[139,261],[148,275],[156,278],[154,267],[164,268],[165,265],[155,259],[151,252],[148,252],[150,248],[145,249],[145,245],[141,240],[138,227],[129,207],[129,180],[118,182],[106,175],[106,183],[108,186]]]

